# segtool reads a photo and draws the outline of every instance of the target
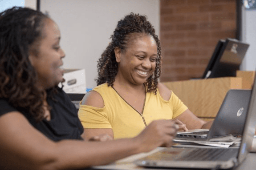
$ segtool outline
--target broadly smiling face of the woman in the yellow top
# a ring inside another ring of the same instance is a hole
[[[133,85],[143,85],[156,67],[157,45],[152,36],[135,34],[128,39],[125,50],[115,48],[118,73],[116,79]]]

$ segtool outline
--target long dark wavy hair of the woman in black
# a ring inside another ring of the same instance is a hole
[[[46,92],[36,87],[37,73],[28,59],[29,51],[43,38],[45,14],[13,7],[0,13],[0,98],[16,108],[44,118]],[[37,46],[38,47],[38,46]]]

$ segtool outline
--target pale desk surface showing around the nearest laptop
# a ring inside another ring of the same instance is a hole
[[[141,153],[141,154],[135,154],[130,157],[121,159],[113,164],[105,165],[105,166],[93,166],[92,169],[98,169],[98,170],[167,170],[167,169],[155,169],[155,168],[143,168],[140,166],[136,166],[132,162],[138,158],[145,157],[146,155],[152,154],[154,152],[157,152],[159,150],[162,150],[164,148],[157,148],[155,150],[152,150],[148,153]],[[255,170],[256,169],[256,153],[250,153],[248,154],[245,161],[240,164],[238,167],[235,168],[235,170]],[[174,170],[174,169],[171,169]],[[181,170],[181,169],[179,169]]]

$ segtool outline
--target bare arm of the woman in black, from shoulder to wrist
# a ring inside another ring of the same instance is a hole
[[[15,123],[9,126],[13,121]],[[138,146],[143,143],[135,138],[53,142],[17,113],[0,117],[0,141],[0,169],[16,170],[78,169],[106,164],[142,151]]]

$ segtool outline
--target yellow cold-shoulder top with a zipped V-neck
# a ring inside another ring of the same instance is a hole
[[[175,119],[187,110],[187,106],[172,92],[171,98],[164,100],[159,92],[146,93],[143,113],[131,107],[107,83],[101,84],[97,91],[104,100],[104,107],[81,105],[78,117],[84,128],[111,128],[114,139],[132,138],[138,135],[150,122],[157,119]]]

